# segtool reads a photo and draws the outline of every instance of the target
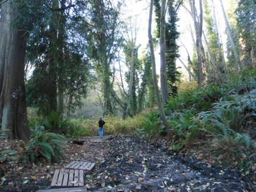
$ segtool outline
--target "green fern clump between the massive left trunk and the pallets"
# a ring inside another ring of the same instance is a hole
[[[60,162],[63,144],[65,144],[65,137],[45,131],[42,126],[37,126],[32,130],[32,139],[25,147],[23,160],[24,162],[27,160],[38,162],[44,159],[48,162]]]

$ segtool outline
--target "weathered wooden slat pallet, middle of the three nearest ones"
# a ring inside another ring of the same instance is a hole
[[[51,187],[83,187],[83,170],[56,169]]]

